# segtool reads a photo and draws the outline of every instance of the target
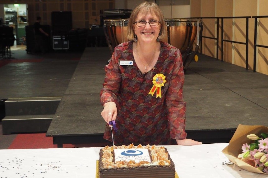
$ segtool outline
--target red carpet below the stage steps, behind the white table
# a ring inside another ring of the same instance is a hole
[[[106,146],[107,143],[91,143],[91,144],[63,144],[63,148],[78,147],[100,147]],[[35,148],[58,148],[53,145],[53,137],[46,137],[46,133],[24,133],[18,134],[8,149],[35,149]]]

